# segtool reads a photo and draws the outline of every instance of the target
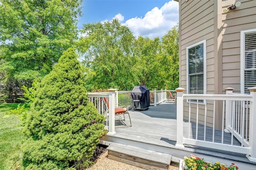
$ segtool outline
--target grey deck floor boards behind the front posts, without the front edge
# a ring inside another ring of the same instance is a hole
[[[130,110],[132,127],[116,128],[114,136],[160,146],[174,147],[176,143],[176,105],[163,103],[145,111]],[[129,121],[126,119],[126,121]],[[188,137],[188,121],[184,120],[183,135]],[[116,122],[118,125],[118,122]],[[180,125],[178,125],[179,128]],[[196,138],[196,124],[190,123],[190,138]],[[206,127],[206,141],[212,141],[212,128]],[[221,142],[222,131],[215,129],[214,142]],[[204,140],[204,125],[198,125],[198,139]],[[224,143],[231,144],[231,134],[224,132]],[[234,138],[234,145],[240,142]]]

